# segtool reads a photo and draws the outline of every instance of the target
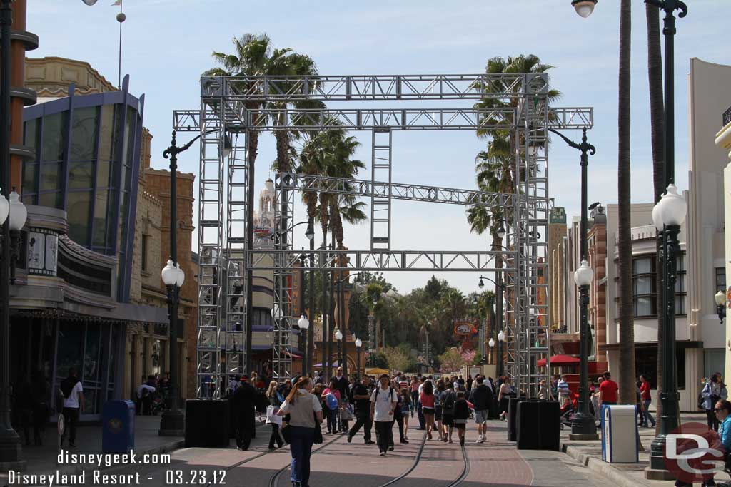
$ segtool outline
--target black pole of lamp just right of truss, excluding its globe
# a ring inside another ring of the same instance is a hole
[[[586,207],[588,206],[586,197],[586,172],[588,166],[588,150],[593,149],[586,142],[586,127],[582,131],[581,137],[581,227],[580,227],[580,260],[586,260],[586,227],[587,215]],[[592,154],[595,151],[592,150]],[[578,412],[571,422],[572,435],[581,435],[585,438],[588,435],[591,438],[596,437],[596,423],[594,416],[589,413],[589,396],[588,396],[588,304],[589,304],[589,286],[582,285],[579,288],[579,305],[580,305],[580,329],[579,329],[579,348],[580,348],[580,364],[579,364],[579,404]],[[547,366],[548,367],[548,364]],[[579,438],[576,438],[579,439]]]

